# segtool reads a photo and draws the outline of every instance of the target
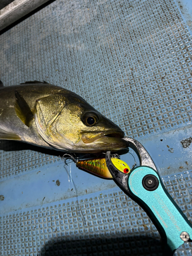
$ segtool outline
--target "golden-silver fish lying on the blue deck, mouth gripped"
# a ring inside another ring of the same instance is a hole
[[[123,137],[118,125],[74,92],[46,81],[8,87],[0,82],[0,140],[98,153],[126,148]]]

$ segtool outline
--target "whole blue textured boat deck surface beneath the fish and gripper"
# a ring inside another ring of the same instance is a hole
[[[173,0],[56,0],[0,35],[0,79],[82,96],[144,145],[192,220],[191,40]],[[0,255],[162,255],[113,180],[30,145],[0,141],[0,200]]]

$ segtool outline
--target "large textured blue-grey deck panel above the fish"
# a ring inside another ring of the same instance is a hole
[[[0,44],[6,86],[65,87],[135,138],[191,124],[191,34],[174,1],[56,1]]]

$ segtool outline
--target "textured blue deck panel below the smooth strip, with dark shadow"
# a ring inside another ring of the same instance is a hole
[[[163,177],[170,195],[190,221],[191,172]],[[1,215],[0,254],[163,255],[154,224],[119,188],[78,199]],[[186,248],[186,255],[191,255],[191,246]]]

